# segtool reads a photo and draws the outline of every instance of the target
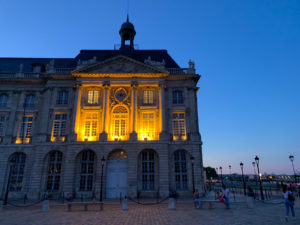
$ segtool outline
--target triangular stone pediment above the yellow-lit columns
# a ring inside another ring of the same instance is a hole
[[[168,76],[169,72],[119,55],[102,62],[80,67],[72,71],[73,76],[101,77],[101,76]]]

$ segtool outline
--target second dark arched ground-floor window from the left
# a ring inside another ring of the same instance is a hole
[[[48,161],[48,179],[47,190],[59,190],[61,176],[62,153],[55,151],[51,152]]]

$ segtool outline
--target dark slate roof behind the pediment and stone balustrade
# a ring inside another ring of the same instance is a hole
[[[96,61],[101,62],[117,55],[124,55],[142,63],[150,56],[152,61],[162,62],[164,60],[166,68],[180,68],[167,50],[81,50],[75,58],[0,58],[0,72],[18,72],[20,64],[23,64],[23,72],[32,72],[33,64],[41,63],[46,67],[53,59],[55,68],[75,69],[79,59],[85,61],[96,57]]]

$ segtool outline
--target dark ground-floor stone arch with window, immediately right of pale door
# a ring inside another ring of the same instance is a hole
[[[138,193],[155,197],[159,190],[159,155],[154,149],[143,149],[138,154]]]

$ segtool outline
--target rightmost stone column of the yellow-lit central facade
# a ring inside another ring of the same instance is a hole
[[[166,104],[165,104],[165,84],[160,84],[160,92],[159,92],[159,116],[161,121],[161,131],[159,134],[159,140],[167,141],[169,139],[169,134],[166,132]]]

